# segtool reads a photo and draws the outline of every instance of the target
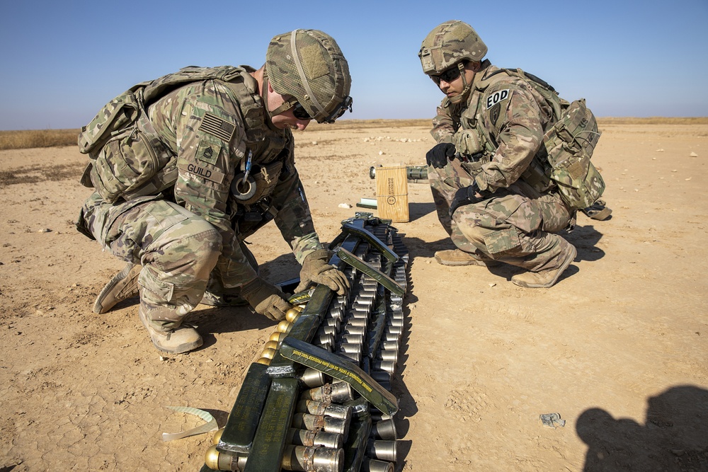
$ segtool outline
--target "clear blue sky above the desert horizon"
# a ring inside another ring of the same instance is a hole
[[[0,6],[0,129],[81,127],[133,84],[188,65],[260,67],[270,38],[295,28],[342,48],[346,117],[433,117],[442,93],[417,53],[450,19],[477,30],[493,64],[600,117],[708,116],[708,0],[25,0]]]

